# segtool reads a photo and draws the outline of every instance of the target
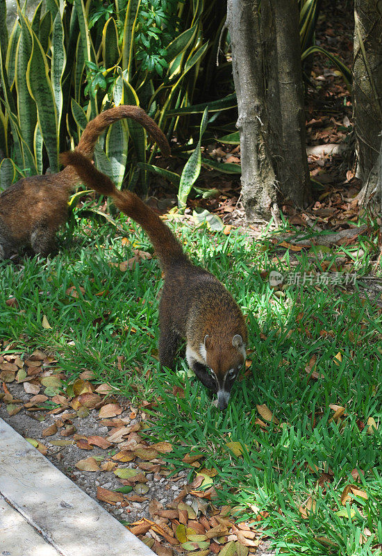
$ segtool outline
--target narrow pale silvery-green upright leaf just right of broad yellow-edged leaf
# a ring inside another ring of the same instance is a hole
[[[51,84],[57,108],[57,126],[60,132],[61,115],[63,113],[62,79],[65,71],[66,54],[64,46],[64,28],[60,12],[57,10],[53,21],[51,37]]]

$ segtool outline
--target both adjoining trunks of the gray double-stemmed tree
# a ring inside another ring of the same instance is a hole
[[[228,0],[247,220],[269,219],[276,193],[305,206],[305,144],[296,0]]]

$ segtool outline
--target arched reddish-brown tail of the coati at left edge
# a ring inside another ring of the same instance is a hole
[[[92,158],[94,152],[94,145],[101,133],[111,124],[118,120],[123,120],[125,117],[138,122],[146,129],[147,133],[155,140],[159,147],[160,152],[164,156],[169,156],[170,149],[169,143],[165,134],[159,129],[156,122],[152,120],[147,113],[139,106],[129,106],[122,104],[121,106],[114,106],[108,110],[101,112],[98,116],[94,117],[85,127],[81,139],[78,142],[76,151],[81,152],[85,156]]]

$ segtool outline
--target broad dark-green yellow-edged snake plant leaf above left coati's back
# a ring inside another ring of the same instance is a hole
[[[31,97],[35,100],[38,111],[38,123],[40,125],[44,145],[47,149],[51,172],[58,172],[58,122],[57,108],[54,100],[53,88],[49,79],[49,67],[47,57],[38,40],[31,30],[26,18],[23,21],[28,32],[33,38],[31,60],[26,72],[26,83]]]

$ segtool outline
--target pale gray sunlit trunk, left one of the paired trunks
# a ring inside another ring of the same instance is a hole
[[[232,70],[238,97],[242,195],[249,222],[269,220],[276,206],[276,177],[269,154],[258,0],[228,0]]]

